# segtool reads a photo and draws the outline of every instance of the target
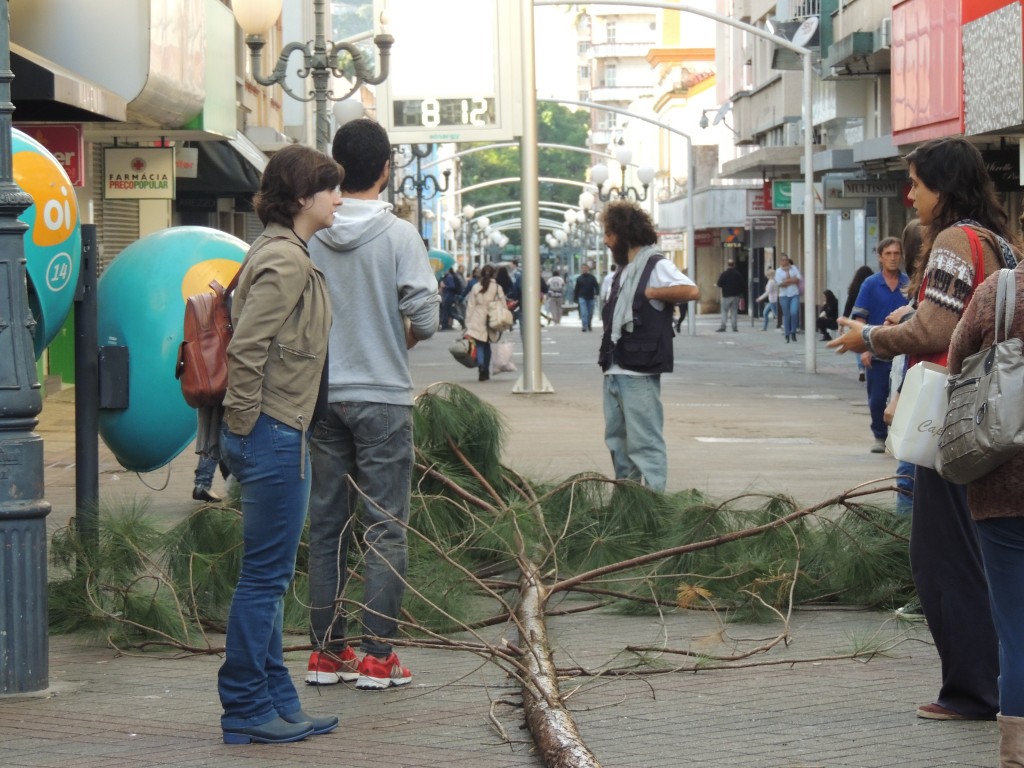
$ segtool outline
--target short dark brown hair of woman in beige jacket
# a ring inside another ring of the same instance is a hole
[[[266,164],[253,209],[263,226],[292,226],[302,210],[299,202],[341,184],[345,172],[331,158],[303,144],[289,144]]]

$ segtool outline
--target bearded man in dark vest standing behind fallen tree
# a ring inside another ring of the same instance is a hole
[[[636,203],[608,204],[601,223],[617,266],[602,310],[598,357],[604,372],[604,442],[616,479],[664,492],[662,374],[673,367],[672,314],[676,303],[700,298],[700,289],[654,247],[654,224]]]

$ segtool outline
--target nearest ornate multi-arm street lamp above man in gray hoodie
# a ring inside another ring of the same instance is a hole
[[[362,55],[362,52],[351,43],[335,43],[325,37],[325,4],[326,0],[313,0],[313,34],[312,46],[305,43],[289,43],[281,50],[273,72],[266,77],[260,75],[262,69],[262,51],[266,45],[263,35],[281,15],[283,0],[233,0],[231,3],[234,18],[239,27],[246,33],[246,45],[249,46],[252,61],[253,79],[260,85],[280,85],[285,92],[297,101],[315,101],[316,109],[316,148],[328,152],[331,144],[331,119],[328,115],[327,102],[341,101],[351,96],[364,83],[379,85],[387,79],[388,61],[394,38],[382,32],[374,38],[374,44],[380,55],[380,72],[374,75]],[[385,19],[381,18],[381,29],[385,29]],[[312,91],[302,96],[293,91],[285,78],[288,74],[288,59],[295,52],[302,55],[302,67],[297,74],[300,78],[311,77]],[[348,54],[348,61],[342,65],[341,53]],[[331,89],[331,76],[348,78],[352,87],[341,96],[336,96]]]

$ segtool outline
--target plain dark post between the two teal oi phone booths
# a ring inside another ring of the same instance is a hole
[[[99,547],[96,256],[96,225],[83,224],[82,267],[75,294],[75,525],[90,555]]]

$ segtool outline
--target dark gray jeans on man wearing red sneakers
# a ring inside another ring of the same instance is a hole
[[[361,500],[366,562],[366,632],[361,649],[386,656],[406,593],[413,478],[413,408],[384,402],[332,402],[311,441],[309,497],[309,639],[344,645],[345,611],[337,602],[348,579],[348,543]]]

